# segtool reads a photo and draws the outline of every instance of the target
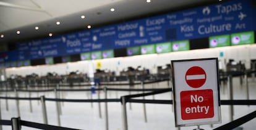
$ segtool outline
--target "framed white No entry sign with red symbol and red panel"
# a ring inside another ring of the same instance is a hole
[[[172,60],[176,127],[221,122],[218,59]]]

